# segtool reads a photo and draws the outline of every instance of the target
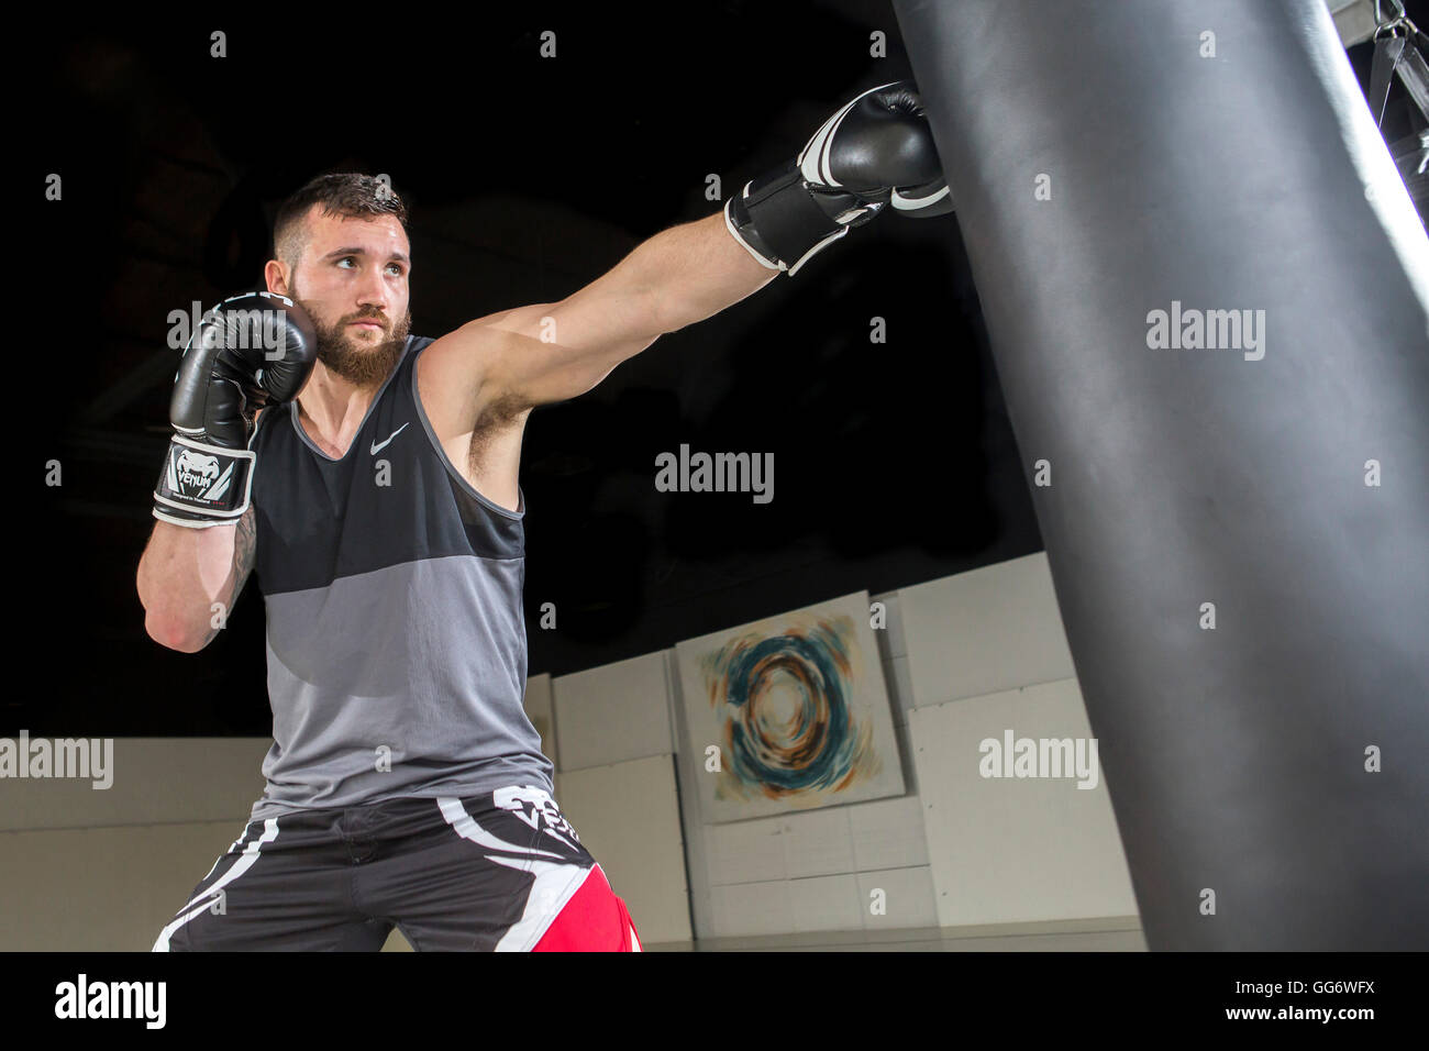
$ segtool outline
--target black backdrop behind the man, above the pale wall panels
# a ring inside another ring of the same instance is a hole
[[[34,277],[10,317],[39,326],[11,329],[7,389],[39,506],[13,515],[0,734],[270,732],[253,581],[184,655],[144,633],[134,573],[170,433],[169,313],[257,287],[273,213],[307,179],[392,176],[412,209],[412,330],[440,336],[570,295],[719,210],[852,96],[910,76],[882,0],[392,14],[407,10],[53,16],[11,39],[33,74],[11,132],[27,226],[10,229]],[[556,59],[539,57],[547,29]],[[1350,57],[1368,83],[1369,46]],[[1398,83],[1385,124],[1390,140],[1418,127]],[[51,172],[61,202],[43,200]],[[682,443],[772,452],[773,502],[656,492],[656,455]],[[60,488],[43,483],[51,459]],[[1042,548],[952,216],[882,216],[536,409],[522,463],[533,675]]]

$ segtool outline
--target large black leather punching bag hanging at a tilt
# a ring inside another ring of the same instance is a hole
[[[1429,239],[1323,0],[895,0],[1152,949],[1429,948]]]

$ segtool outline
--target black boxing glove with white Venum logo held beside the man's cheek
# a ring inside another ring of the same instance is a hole
[[[297,398],[316,362],[317,332],[292,299],[250,292],[203,315],[174,375],[154,518],[189,529],[236,523],[253,492],[253,418]]]

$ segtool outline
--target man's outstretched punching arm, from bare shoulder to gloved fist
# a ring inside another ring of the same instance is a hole
[[[746,183],[722,213],[650,237],[559,303],[470,322],[419,367],[462,433],[492,409],[507,416],[576,398],[666,332],[703,320],[796,273],[885,207],[952,210],[922,102],[907,82],[836,112],[797,159]]]

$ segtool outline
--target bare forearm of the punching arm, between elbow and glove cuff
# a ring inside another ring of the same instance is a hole
[[[660,332],[674,332],[733,306],[779,276],[762,266],[716,212],[662,230],[622,263],[629,280],[649,289]]]

